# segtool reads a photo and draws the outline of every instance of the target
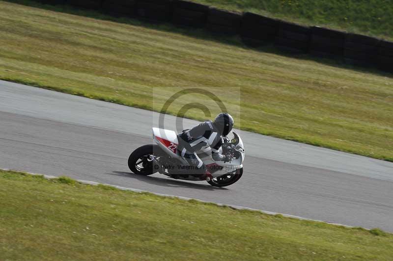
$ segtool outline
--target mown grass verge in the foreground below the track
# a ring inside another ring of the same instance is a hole
[[[0,170],[0,260],[389,260],[393,235]]]

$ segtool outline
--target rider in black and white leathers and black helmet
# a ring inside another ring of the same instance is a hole
[[[211,178],[207,169],[203,169],[203,162],[197,156],[197,151],[201,148],[210,147],[212,157],[216,161],[225,160],[226,156],[219,153],[222,145],[222,136],[228,135],[233,128],[233,118],[228,113],[220,113],[212,121],[202,122],[190,130],[183,130],[178,134],[181,157],[183,157],[196,171],[193,174],[206,174]]]

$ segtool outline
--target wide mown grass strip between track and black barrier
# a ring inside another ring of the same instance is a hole
[[[173,92],[205,88],[243,130],[393,161],[392,75],[67,10],[81,16],[0,1],[1,79],[156,111]],[[190,101],[211,103],[189,97],[169,113]]]

